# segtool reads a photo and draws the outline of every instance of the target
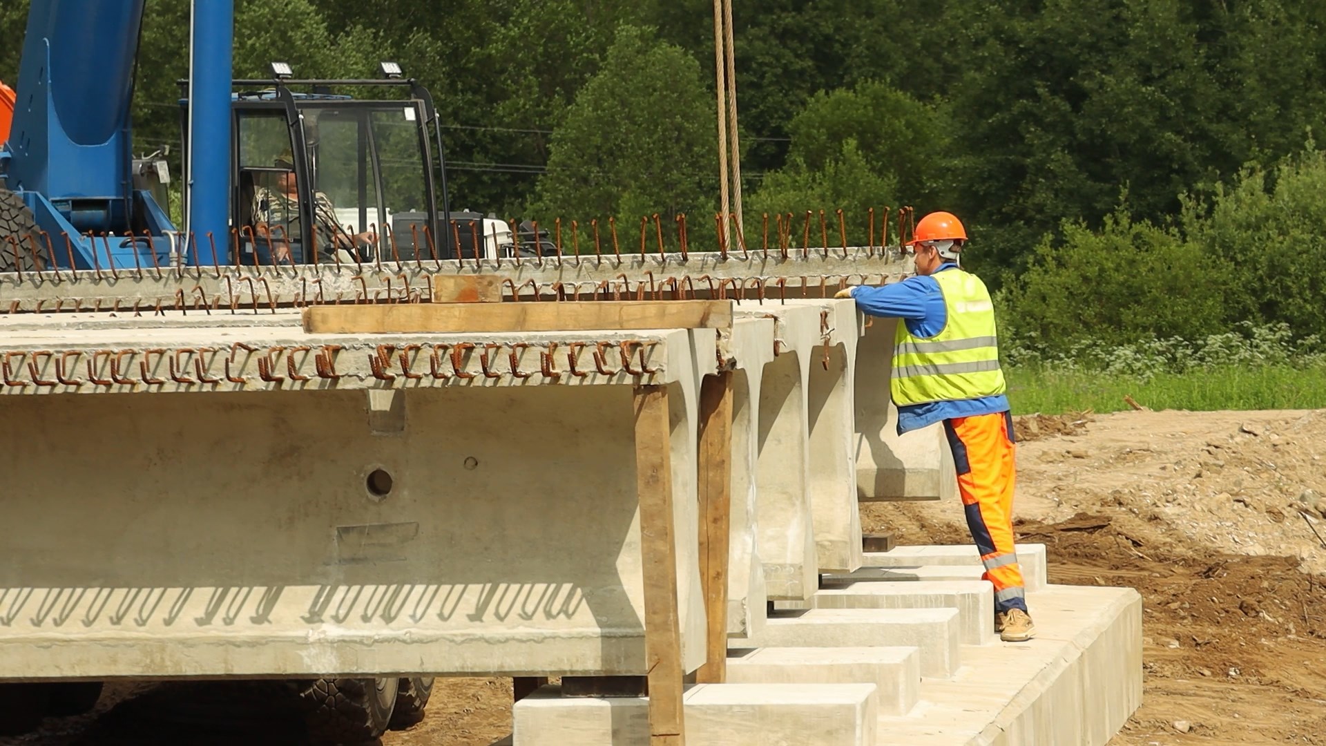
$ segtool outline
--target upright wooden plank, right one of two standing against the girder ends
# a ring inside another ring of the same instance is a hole
[[[732,520],[732,372],[700,385],[700,583],[707,660],[697,684],[728,678],[728,543]]]

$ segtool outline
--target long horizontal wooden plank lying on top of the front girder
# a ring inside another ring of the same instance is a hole
[[[313,305],[310,335],[727,329],[731,300],[587,300]]]

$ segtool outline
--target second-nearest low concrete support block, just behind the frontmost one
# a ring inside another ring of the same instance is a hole
[[[879,714],[900,715],[920,692],[920,653],[916,648],[732,650],[728,684],[874,684]]]

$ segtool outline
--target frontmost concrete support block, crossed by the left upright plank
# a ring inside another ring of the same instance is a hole
[[[514,746],[648,746],[648,700],[561,698],[544,686],[516,702]],[[874,684],[699,684],[686,692],[695,746],[874,746]]]

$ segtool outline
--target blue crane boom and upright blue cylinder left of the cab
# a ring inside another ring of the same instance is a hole
[[[28,12],[0,169],[42,232],[69,236],[65,246],[38,244],[60,267],[70,260],[74,268],[142,267],[170,259],[176,227],[151,192],[134,188],[131,173],[130,105],[143,11],[145,0],[33,0]],[[231,0],[195,7],[194,142],[229,139],[232,11]],[[190,230],[224,236],[228,153],[199,149],[192,155]],[[211,264],[203,255],[208,250],[200,247],[190,259]]]

